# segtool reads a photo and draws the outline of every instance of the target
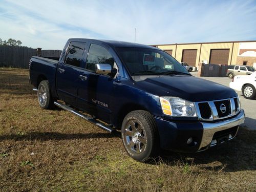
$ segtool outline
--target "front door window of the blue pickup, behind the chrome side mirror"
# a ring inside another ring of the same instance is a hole
[[[113,68],[114,58],[104,47],[91,44],[86,61],[86,69],[95,72],[95,65],[98,63],[109,64]]]

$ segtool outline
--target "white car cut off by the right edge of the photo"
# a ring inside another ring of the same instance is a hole
[[[256,97],[256,71],[251,75],[237,75],[234,76],[232,82],[229,83],[229,87],[242,91],[243,96],[246,99],[253,99]]]

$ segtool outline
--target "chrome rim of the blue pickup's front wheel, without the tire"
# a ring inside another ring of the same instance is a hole
[[[124,138],[126,146],[136,154],[141,153],[146,146],[145,130],[136,120],[131,120],[127,123]]]

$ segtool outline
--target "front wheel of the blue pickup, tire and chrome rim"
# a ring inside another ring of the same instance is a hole
[[[147,111],[132,111],[122,122],[122,141],[125,151],[133,159],[144,162],[159,152],[159,136],[154,117]]]

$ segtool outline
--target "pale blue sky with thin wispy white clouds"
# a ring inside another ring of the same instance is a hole
[[[61,50],[68,38],[141,44],[256,40],[256,1],[0,0],[0,38]]]

